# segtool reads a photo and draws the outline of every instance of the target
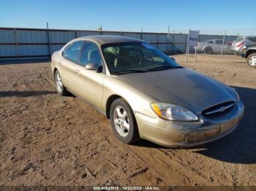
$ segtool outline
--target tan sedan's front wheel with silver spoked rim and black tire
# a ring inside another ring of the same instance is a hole
[[[140,140],[137,122],[132,108],[123,98],[118,98],[110,106],[110,121],[117,139],[124,144]],[[129,125],[129,128],[127,128]]]

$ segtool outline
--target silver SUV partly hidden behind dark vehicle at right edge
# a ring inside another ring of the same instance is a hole
[[[255,44],[256,36],[238,36],[238,38],[232,43],[230,47],[235,55],[241,55],[244,46],[249,44]]]

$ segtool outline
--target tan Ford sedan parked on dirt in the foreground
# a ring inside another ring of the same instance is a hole
[[[236,90],[178,65],[140,39],[73,39],[53,52],[51,69],[57,92],[70,92],[105,114],[125,144],[205,144],[230,133],[244,114]]]

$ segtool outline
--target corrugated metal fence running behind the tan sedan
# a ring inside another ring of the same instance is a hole
[[[89,35],[111,34],[131,36],[143,39],[171,54],[186,52],[187,34],[146,33],[127,31],[82,31],[57,30],[42,28],[0,28],[0,60],[22,58],[50,58],[70,40]],[[233,41],[237,36],[225,36],[226,41]],[[222,39],[220,35],[200,34],[199,41]]]

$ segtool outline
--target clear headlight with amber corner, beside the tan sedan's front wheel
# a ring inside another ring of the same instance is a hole
[[[197,115],[182,106],[165,103],[152,103],[151,109],[161,118],[165,120],[175,121],[197,121]]]

